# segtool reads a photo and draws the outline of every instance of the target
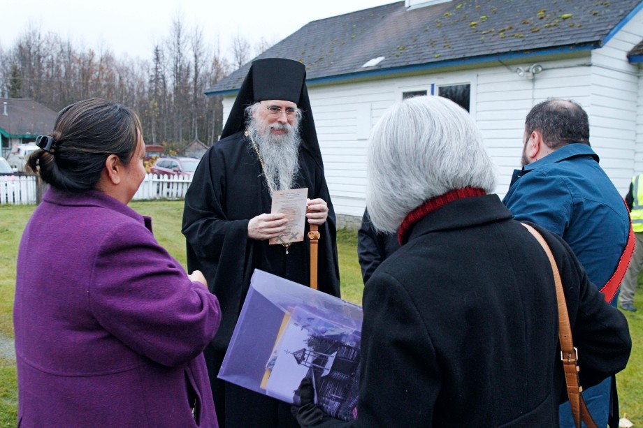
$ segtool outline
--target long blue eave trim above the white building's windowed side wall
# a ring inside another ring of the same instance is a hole
[[[530,50],[526,52],[507,52],[505,54],[485,55],[483,57],[475,57],[475,58],[450,59],[447,61],[435,61],[435,62],[430,62],[426,64],[415,64],[412,66],[384,68],[382,70],[358,71],[356,73],[332,75],[332,76],[326,76],[324,78],[313,78],[313,79],[306,80],[306,84],[310,86],[311,84],[342,82],[342,81],[371,78],[371,77],[377,77],[377,76],[386,76],[386,75],[392,75],[396,73],[409,73],[412,71],[427,71],[427,70],[433,70],[434,68],[465,66],[465,65],[479,64],[482,62],[489,62],[489,61],[502,61],[505,59],[522,59],[522,58],[539,57],[542,55],[554,55],[554,54],[561,54],[561,53],[567,53],[567,52],[593,50],[598,47],[600,47],[598,43],[588,43],[585,45],[552,47],[549,49]],[[223,91],[211,91],[211,92],[205,91],[205,95],[206,96],[231,95],[231,94],[237,94],[238,91],[239,89],[225,89]]]

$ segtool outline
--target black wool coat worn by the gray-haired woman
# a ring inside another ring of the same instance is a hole
[[[594,385],[626,367],[626,319],[569,246],[534,227],[561,271],[581,385]],[[551,266],[496,195],[421,219],[371,277],[363,313],[356,426],[558,426],[565,391]]]

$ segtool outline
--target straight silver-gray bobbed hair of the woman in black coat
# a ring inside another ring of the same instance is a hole
[[[496,171],[468,112],[417,96],[377,121],[368,148],[366,206],[378,230],[395,232],[426,200],[464,187],[493,192]]]

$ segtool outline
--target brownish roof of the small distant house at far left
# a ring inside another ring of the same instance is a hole
[[[7,115],[4,113],[7,103]],[[57,113],[28,98],[0,98],[0,133],[26,138],[47,134],[54,128]]]

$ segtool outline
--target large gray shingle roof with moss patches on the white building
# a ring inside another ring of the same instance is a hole
[[[407,10],[404,1],[306,24],[259,58],[295,59],[308,80],[558,48],[600,47],[641,0],[452,0]],[[384,57],[363,68],[366,61]],[[206,94],[240,87],[250,63]]]

